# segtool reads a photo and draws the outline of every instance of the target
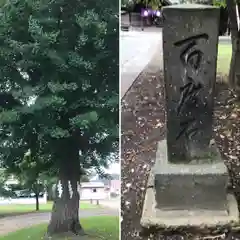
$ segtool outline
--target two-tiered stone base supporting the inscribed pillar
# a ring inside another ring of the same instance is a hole
[[[171,164],[166,141],[161,141],[149,176],[142,226],[216,227],[238,222],[237,201],[227,194],[228,172],[220,158],[208,164]]]

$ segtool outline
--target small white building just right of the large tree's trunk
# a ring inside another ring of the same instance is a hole
[[[103,182],[82,182],[80,200],[101,200],[108,197]]]

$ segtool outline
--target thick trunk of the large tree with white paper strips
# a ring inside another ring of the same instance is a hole
[[[78,152],[75,156],[68,157],[71,161],[65,159],[60,163],[60,178],[48,225],[48,235],[50,236],[62,233],[84,234],[79,221],[78,181],[80,179],[80,164]]]

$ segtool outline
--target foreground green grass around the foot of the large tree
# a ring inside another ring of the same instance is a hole
[[[79,238],[57,238],[63,239],[86,239],[86,240],[117,240],[119,239],[119,218],[118,217],[90,217],[81,219],[81,224],[89,236]],[[6,236],[0,237],[0,240],[26,240],[26,239],[44,239],[46,233],[46,224],[36,225],[31,228],[25,228],[17,232],[10,233]],[[95,237],[94,237],[95,236]],[[54,238],[52,238],[54,240]]]

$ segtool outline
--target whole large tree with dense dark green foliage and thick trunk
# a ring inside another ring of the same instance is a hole
[[[59,177],[50,235],[83,233],[78,182],[118,147],[118,3],[9,0],[0,15],[5,167],[31,150]]]

